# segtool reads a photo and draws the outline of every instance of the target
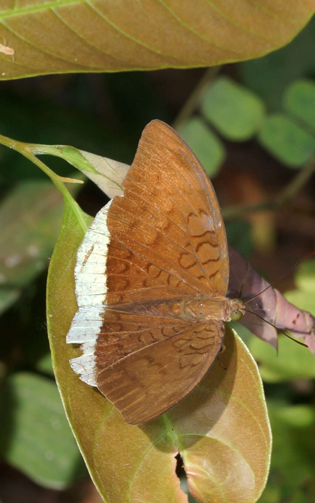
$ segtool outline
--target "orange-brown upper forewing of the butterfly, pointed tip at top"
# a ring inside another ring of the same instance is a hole
[[[133,208],[127,239],[136,236],[150,253],[168,259],[169,269],[175,266],[190,286],[198,281],[199,291],[225,295],[228,251],[217,197],[198,159],[172,128],[152,121],[144,129],[123,185],[123,200],[116,198],[109,212],[111,232],[118,229],[118,208]]]

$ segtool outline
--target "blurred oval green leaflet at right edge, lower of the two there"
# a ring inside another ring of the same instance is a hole
[[[289,167],[305,164],[315,151],[315,138],[282,114],[273,114],[264,120],[258,139]]]

